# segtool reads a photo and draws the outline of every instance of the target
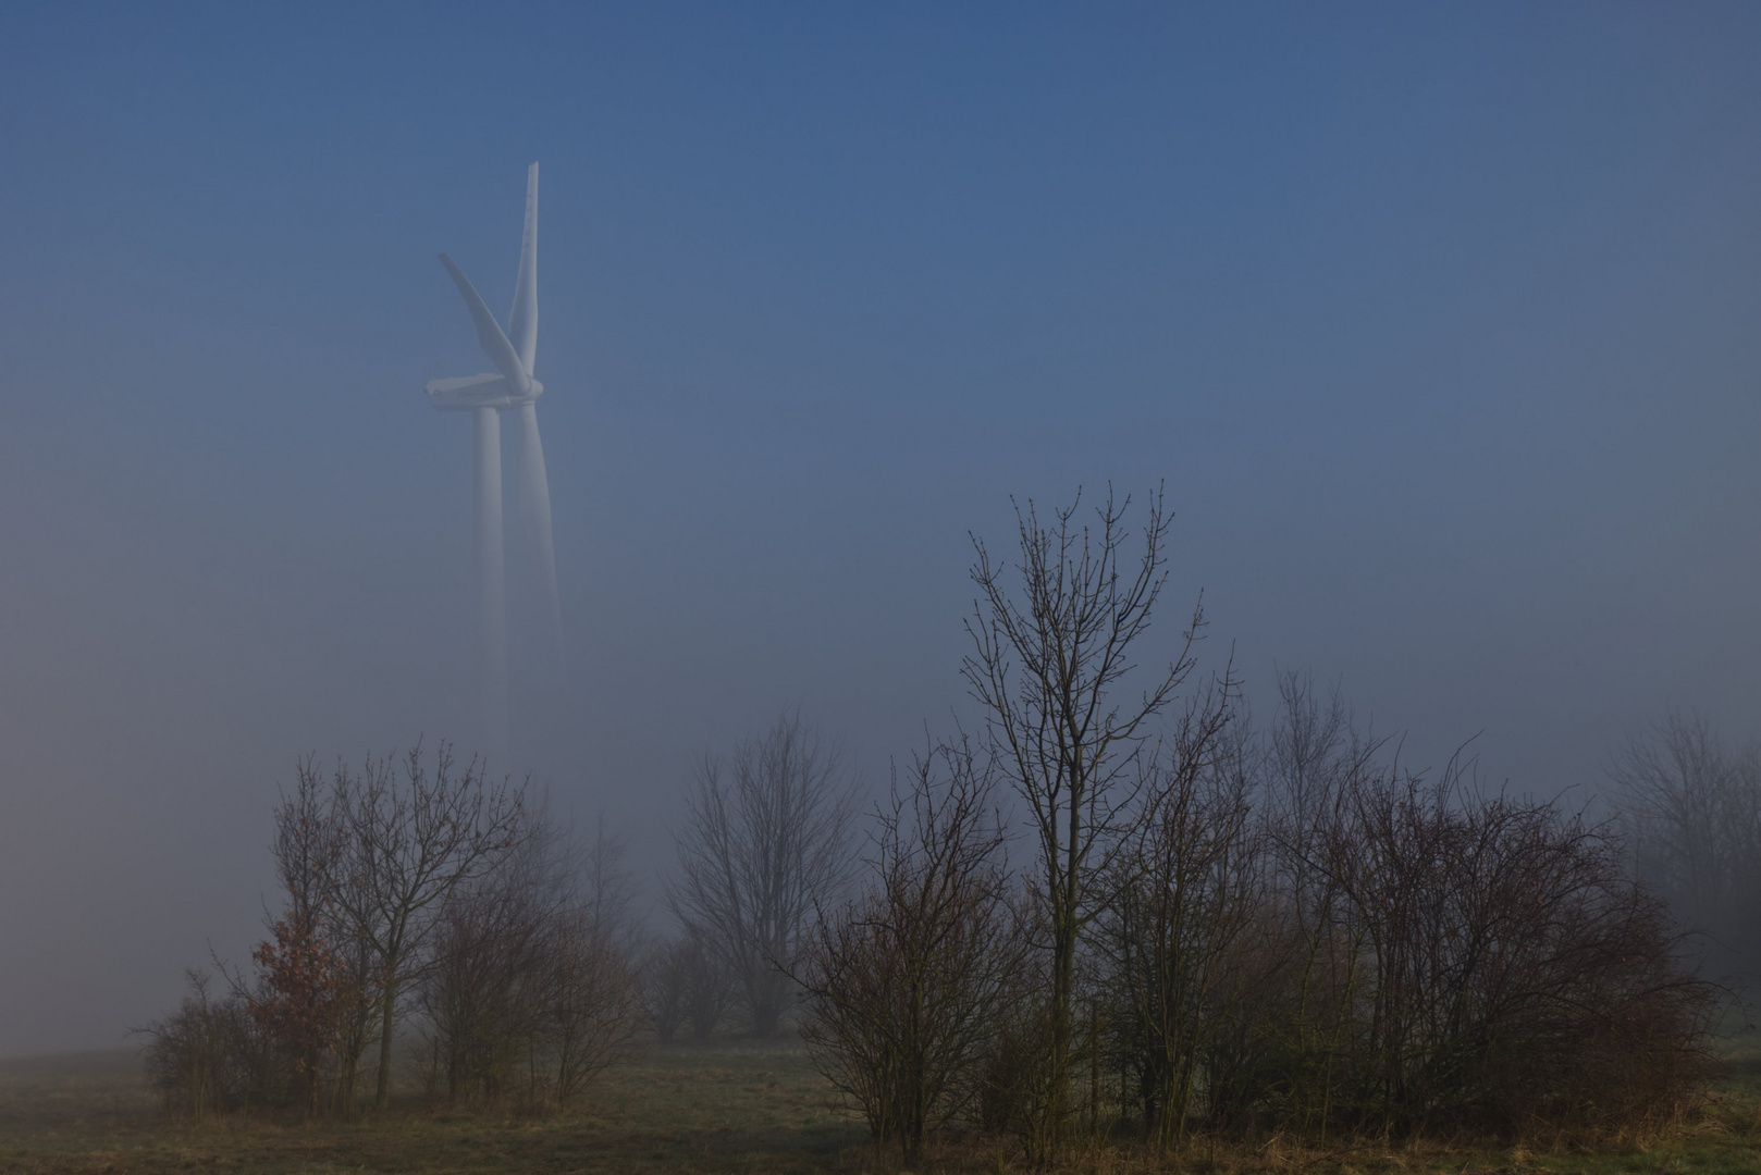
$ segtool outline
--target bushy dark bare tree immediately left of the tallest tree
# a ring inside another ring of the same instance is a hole
[[[873,888],[815,925],[796,972],[815,1062],[907,1166],[974,1103],[1020,971],[993,791],[963,740],[919,757],[879,816]]]

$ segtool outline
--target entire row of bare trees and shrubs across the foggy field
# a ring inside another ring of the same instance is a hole
[[[865,809],[799,715],[701,761],[664,911],[449,747],[298,765],[247,967],[146,1029],[180,1112],[567,1106],[639,1041],[801,1034],[879,1143],[1030,1161],[1192,1129],[1516,1133],[1676,1115],[1752,971],[1761,768],[1675,717],[1611,768],[1618,816],[1426,773],[1337,692],[1146,634],[1159,495],[976,541],[970,729]],[[664,921],[655,935],[650,921]]]

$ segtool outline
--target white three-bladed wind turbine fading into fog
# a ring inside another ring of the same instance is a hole
[[[440,264],[465,298],[477,342],[498,373],[437,379],[428,384],[428,402],[444,412],[475,416],[474,520],[477,553],[479,655],[483,659],[484,719],[488,736],[505,743],[507,735],[507,588],[502,557],[502,421],[500,412],[519,414],[519,516],[537,564],[544,639],[555,669],[562,668],[562,608],[556,595],[556,553],[551,544],[549,483],[544,477],[544,444],[539,440],[537,398],[544,384],[532,379],[539,345],[539,166],[527,169],[527,227],[519,241],[519,277],[514,308],[502,333],[490,307],[470,278],[440,254]],[[509,338],[512,336],[512,338]]]

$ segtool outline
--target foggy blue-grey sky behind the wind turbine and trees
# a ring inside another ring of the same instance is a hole
[[[502,312],[534,159],[572,684],[498,766],[646,879],[784,706],[870,784],[970,721],[969,530],[1108,481],[1176,509],[1146,655],[1203,590],[1412,761],[1761,733],[1757,62],[1752,4],[0,9],[0,1053],[245,957],[294,756],[468,749],[435,254]]]

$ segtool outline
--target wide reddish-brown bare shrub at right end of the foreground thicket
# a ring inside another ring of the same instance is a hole
[[[1661,902],[1604,830],[1456,787],[1446,772],[1352,796],[1335,854],[1368,951],[1351,1112],[1506,1133],[1671,1113],[1701,1076],[1712,988]]]

